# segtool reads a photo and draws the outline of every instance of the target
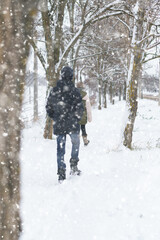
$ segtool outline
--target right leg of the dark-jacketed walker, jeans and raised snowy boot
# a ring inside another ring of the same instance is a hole
[[[81,171],[78,169],[78,161],[79,161],[79,146],[80,146],[80,137],[79,133],[70,134],[71,142],[72,142],[72,152],[70,159],[70,167],[71,174],[80,175]]]

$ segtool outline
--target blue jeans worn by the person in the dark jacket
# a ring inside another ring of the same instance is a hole
[[[79,133],[71,133],[69,134],[72,142],[72,151],[71,158],[79,161],[79,146],[80,146],[80,138]],[[66,146],[66,134],[61,134],[57,136],[57,164],[58,169],[63,168],[66,169],[66,164],[64,162],[65,155],[65,146]]]

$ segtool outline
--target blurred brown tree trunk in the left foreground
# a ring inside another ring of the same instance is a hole
[[[20,135],[24,77],[37,1],[0,2],[0,239],[17,240],[20,218]]]

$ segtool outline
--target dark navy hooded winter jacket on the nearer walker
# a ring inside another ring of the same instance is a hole
[[[79,132],[79,121],[83,115],[83,103],[79,90],[74,86],[73,70],[64,67],[57,86],[51,89],[46,111],[53,119],[55,135]]]

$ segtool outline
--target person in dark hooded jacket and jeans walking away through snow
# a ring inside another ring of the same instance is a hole
[[[46,111],[53,119],[53,132],[57,135],[57,165],[58,180],[66,179],[66,164],[64,161],[66,135],[69,134],[72,142],[70,159],[70,174],[80,175],[78,169],[80,124],[83,115],[83,103],[79,90],[73,83],[73,70],[66,66],[61,70],[61,79],[56,87],[51,89],[47,99]]]

